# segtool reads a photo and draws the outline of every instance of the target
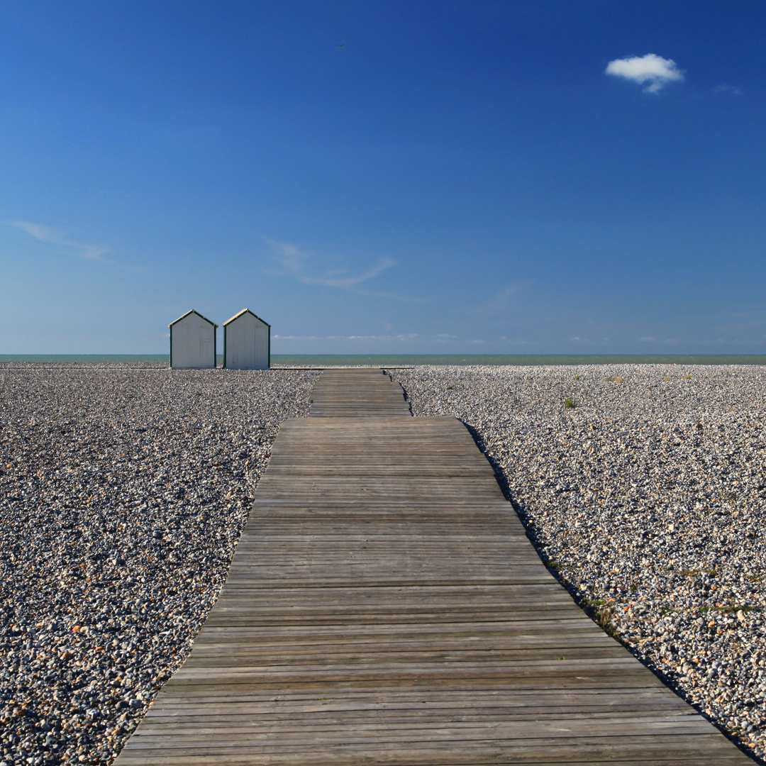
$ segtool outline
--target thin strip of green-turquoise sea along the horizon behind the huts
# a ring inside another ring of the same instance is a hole
[[[167,354],[0,354],[0,365],[18,362],[54,365],[129,364],[166,366]],[[223,357],[218,355],[218,364]],[[272,365],[766,365],[762,354],[272,354]]]

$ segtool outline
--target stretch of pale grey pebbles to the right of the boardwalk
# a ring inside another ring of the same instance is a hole
[[[589,614],[763,758],[766,368],[389,372],[414,414],[474,431]]]

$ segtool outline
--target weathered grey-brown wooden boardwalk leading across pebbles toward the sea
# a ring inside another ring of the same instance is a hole
[[[256,496],[117,766],[752,763],[573,604],[465,427],[381,372],[322,373]]]

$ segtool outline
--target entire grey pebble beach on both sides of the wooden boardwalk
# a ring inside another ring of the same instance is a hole
[[[766,368],[390,369],[473,431],[588,614],[766,752]],[[0,766],[108,764],[319,372],[0,368]]]

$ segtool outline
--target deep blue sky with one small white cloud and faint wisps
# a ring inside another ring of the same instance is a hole
[[[0,0],[0,353],[766,353],[764,21]]]

